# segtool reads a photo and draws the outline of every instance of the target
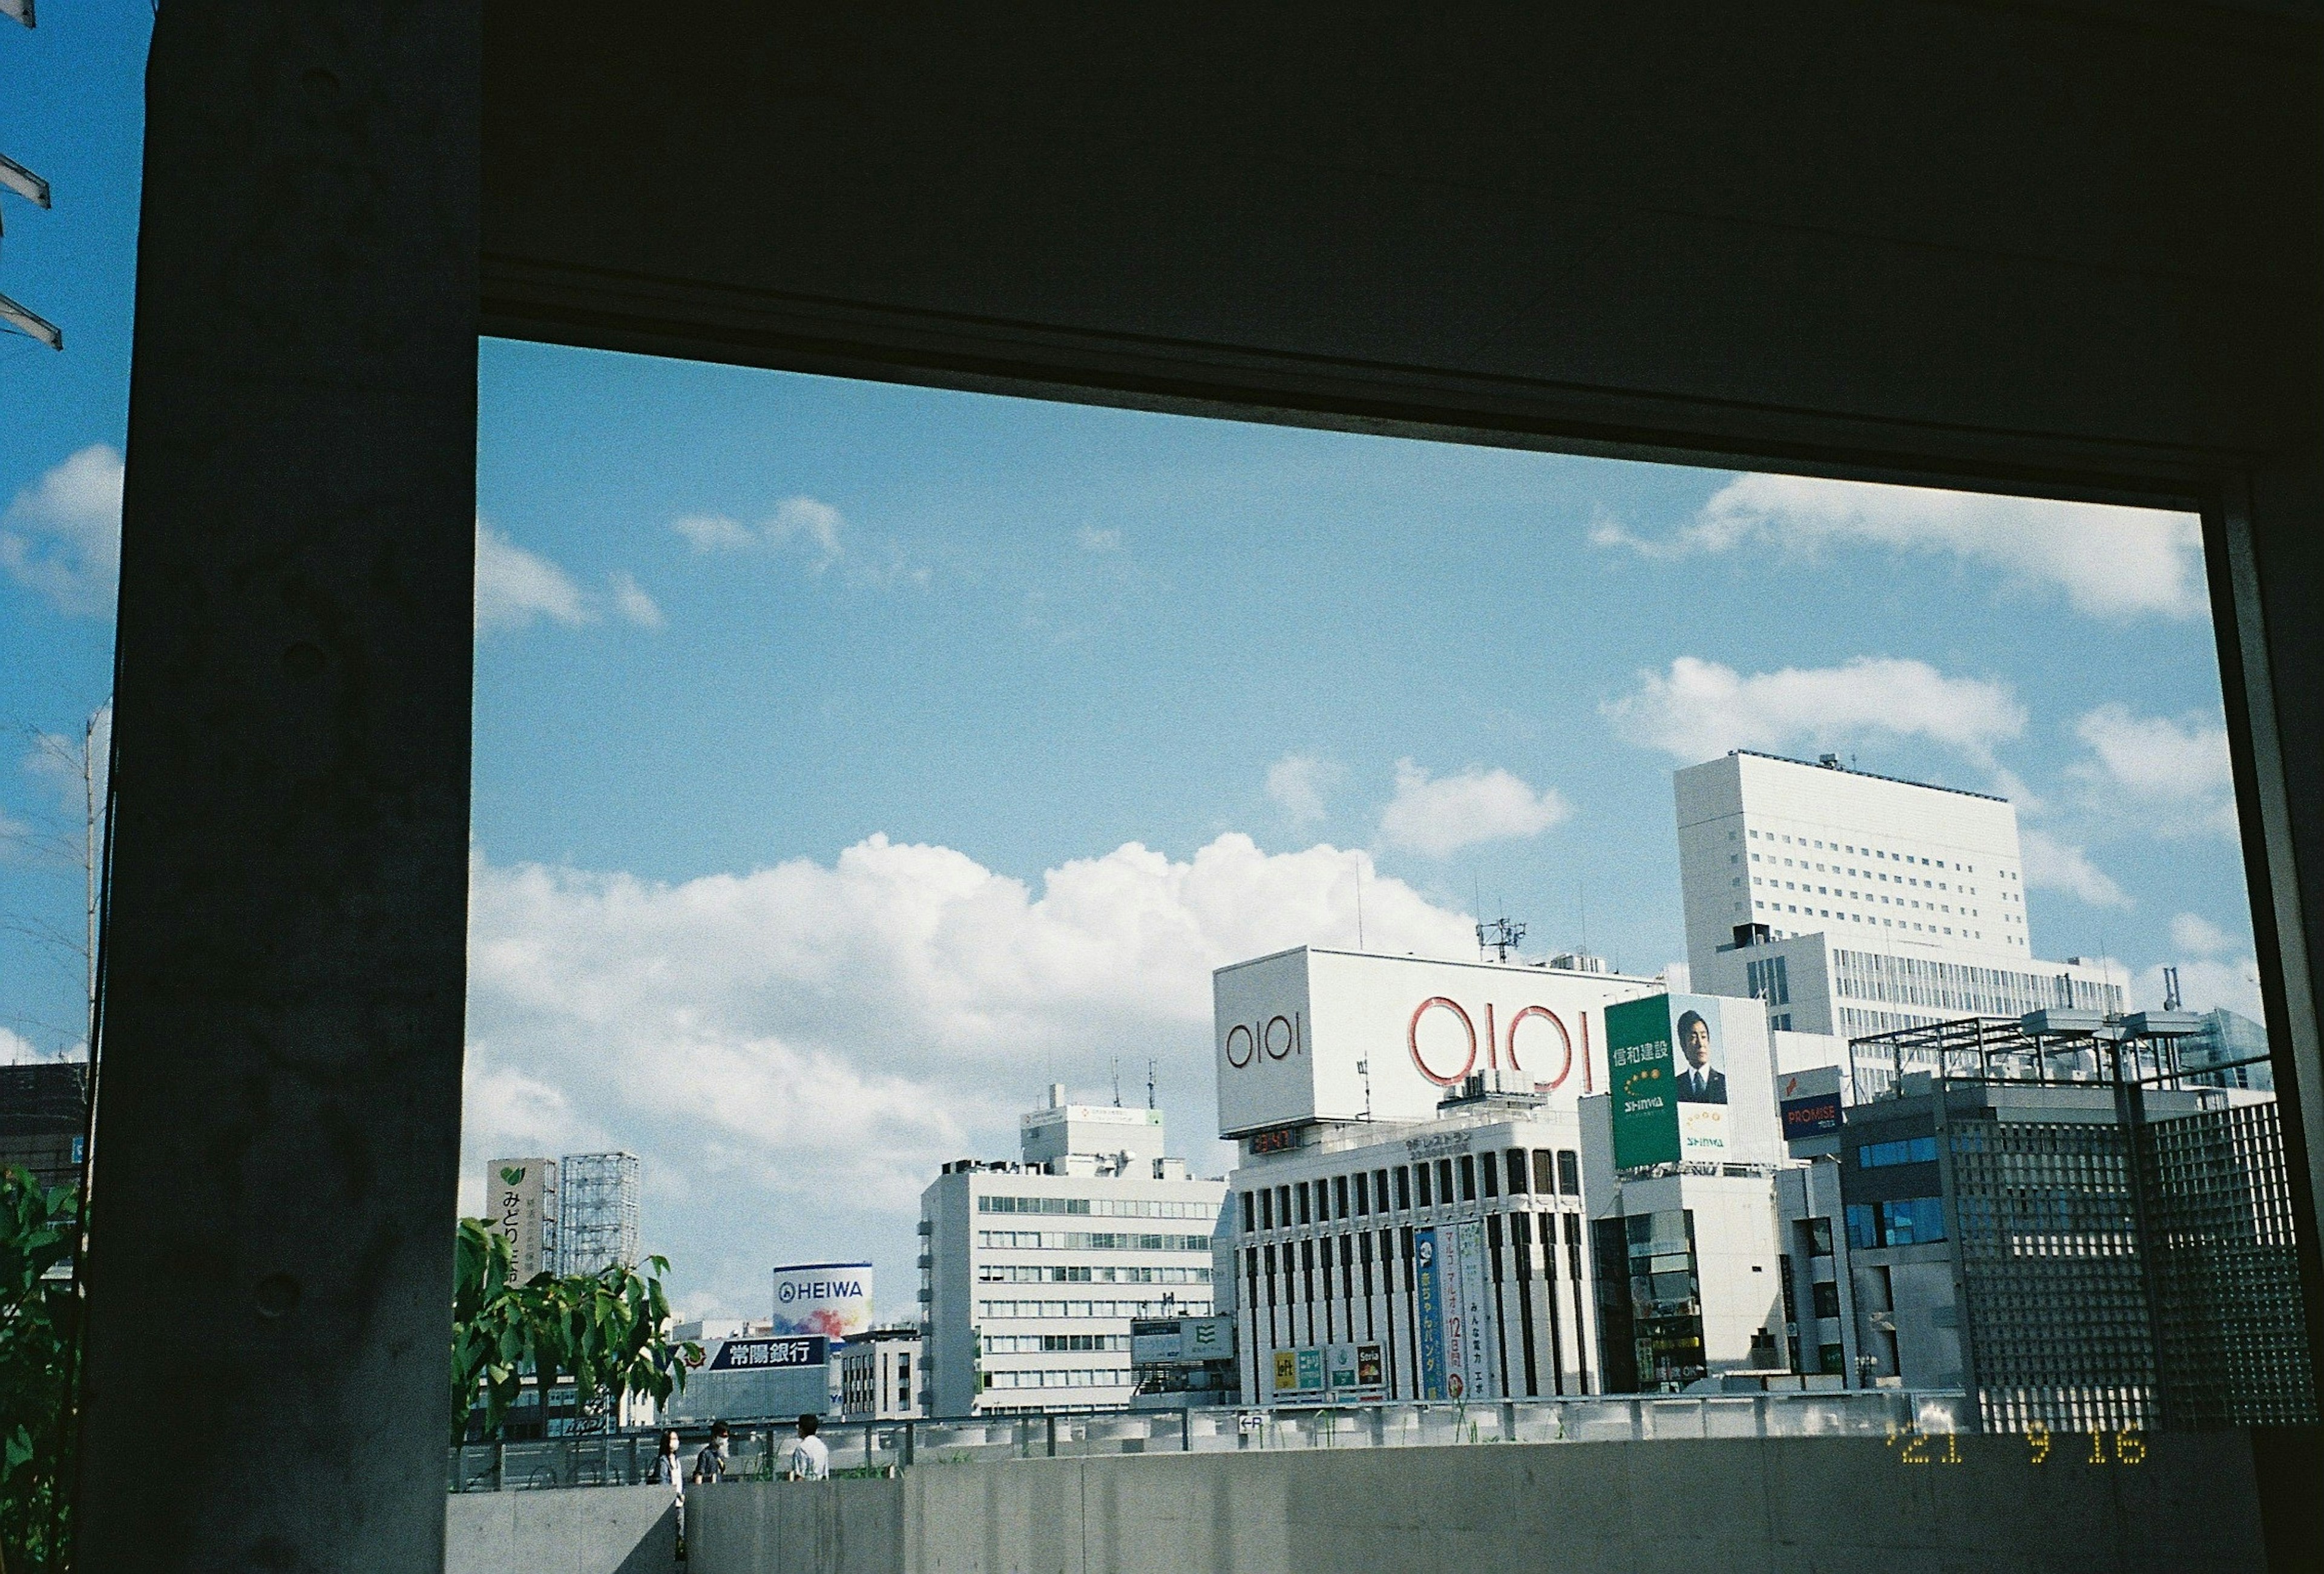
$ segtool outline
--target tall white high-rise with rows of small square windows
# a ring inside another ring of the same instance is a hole
[[[2106,970],[2036,960],[2006,797],[1741,749],[1673,786],[1697,990],[1750,995],[1778,1030],[1845,1039],[2122,1009]]]

